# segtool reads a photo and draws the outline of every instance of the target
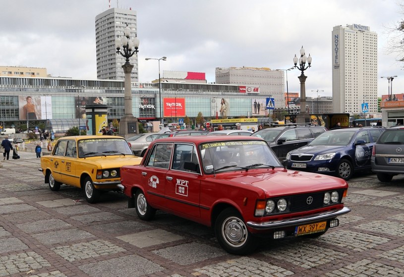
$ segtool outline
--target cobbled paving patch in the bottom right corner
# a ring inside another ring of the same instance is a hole
[[[378,262],[363,259],[356,263],[349,264],[341,269],[326,273],[331,277],[348,277],[348,276],[403,276],[404,270],[386,266]]]

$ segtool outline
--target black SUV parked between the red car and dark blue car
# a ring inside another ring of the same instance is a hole
[[[262,129],[251,136],[265,139],[282,162],[286,159],[286,154],[289,151],[307,145],[315,137],[326,131],[327,129],[322,126],[294,124]]]

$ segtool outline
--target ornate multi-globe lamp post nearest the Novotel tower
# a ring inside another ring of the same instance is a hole
[[[297,62],[299,65],[297,66]],[[306,66],[307,62],[307,66]],[[305,87],[305,82],[307,76],[304,75],[304,71],[311,67],[311,56],[306,56],[306,53],[303,49],[303,46],[301,46],[300,49],[300,58],[297,58],[296,55],[294,55],[293,58],[293,63],[294,63],[294,68],[297,68],[298,70],[301,71],[301,75],[297,78],[299,78],[300,81],[300,113],[296,116],[296,122],[297,123],[306,123],[309,122],[309,116],[306,112],[306,87]]]

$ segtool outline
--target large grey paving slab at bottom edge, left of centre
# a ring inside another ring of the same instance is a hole
[[[164,270],[158,264],[138,255],[91,263],[78,268],[93,277],[138,277]]]

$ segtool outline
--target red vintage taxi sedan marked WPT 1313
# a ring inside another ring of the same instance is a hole
[[[212,226],[220,245],[240,255],[262,236],[320,236],[350,211],[346,181],[287,170],[254,137],[154,140],[141,164],[121,168],[121,184],[140,219],[159,209]]]

